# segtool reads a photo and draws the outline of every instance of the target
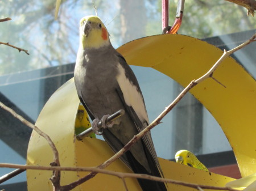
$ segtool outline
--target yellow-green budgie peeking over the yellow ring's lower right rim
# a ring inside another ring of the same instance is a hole
[[[188,165],[190,167],[198,168],[198,169],[209,172],[207,167],[205,167],[205,165],[202,164],[196,158],[196,156],[190,151],[187,151],[187,150],[177,151],[176,154],[175,154],[175,160],[176,160],[177,163]]]

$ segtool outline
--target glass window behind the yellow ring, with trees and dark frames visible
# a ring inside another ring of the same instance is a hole
[[[110,33],[114,48],[144,36],[162,33],[161,1],[94,1],[98,16]],[[176,2],[170,1],[170,25],[175,20]],[[0,101],[31,122],[49,97],[73,77],[79,47],[79,20],[94,15],[92,2],[63,1],[54,20],[55,0],[0,1],[0,41],[28,50],[30,55],[0,46]],[[207,41],[220,49],[232,49],[255,33],[255,18],[246,9],[227,1],[185,2],[181,35]],[[175,45],[173,45],[175,46]],[[256,44],[236,52],[233,57],[255,78]],[[179,94],[182,87],[164,74],[150,68],[131,66],[144,95],[150,121],[154,120]],[[157,154],[174,159],[180,149],[197,155],[231,151],[228,140],[212,115],[192,95],[183,100],[152,130]],[[31,130],[0,111],[0,162],[26,163]],[[216,143],[216,139],[218,142]],[[13,159],[7,161],[7,159]],[[0,168],[0,176],[10,169]],[[6,182],[26,181],[23,173]]]

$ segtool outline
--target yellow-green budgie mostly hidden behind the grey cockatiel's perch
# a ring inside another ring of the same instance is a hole
[[[88,118],[88,114],[84,108],[84,106],[79,105],[79,108],[77,110],[76,114],[76,121],[75,121],[75,134],[78,135],[82,133],[82,131],[90,128],[90,121]],[[91,133],[90,138],[96,138],[96,135],[94,133]]]

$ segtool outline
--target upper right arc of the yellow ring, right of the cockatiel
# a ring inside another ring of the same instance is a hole
[[[205,74],[222,51],[183,35],[157,35],[131,41],[119,49],[130,65],[152,67],[182,86]],[[220,124],[236,155],[242,176],[256,172],[256,82],[233,58],[218,66],[213,79],[191,90]]]

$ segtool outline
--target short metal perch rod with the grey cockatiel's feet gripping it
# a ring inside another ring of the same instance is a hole
[[[84,137],[87,137],[90,133],[94,132],[97,135],[102,134],[102,128],[111,128],[113,126],[113,122],[118,117],[121,117],[123,114],[125,114],[125,111],[123,109],[120,109],[119,111],[115,112],[112,115],[105,115],[99,120],[98,118],[94,119],[92,122],[92,128],[86,129],[85,131],[82,131],[82,133],[78,134],[76,138],[79,141],[82,141]]]

